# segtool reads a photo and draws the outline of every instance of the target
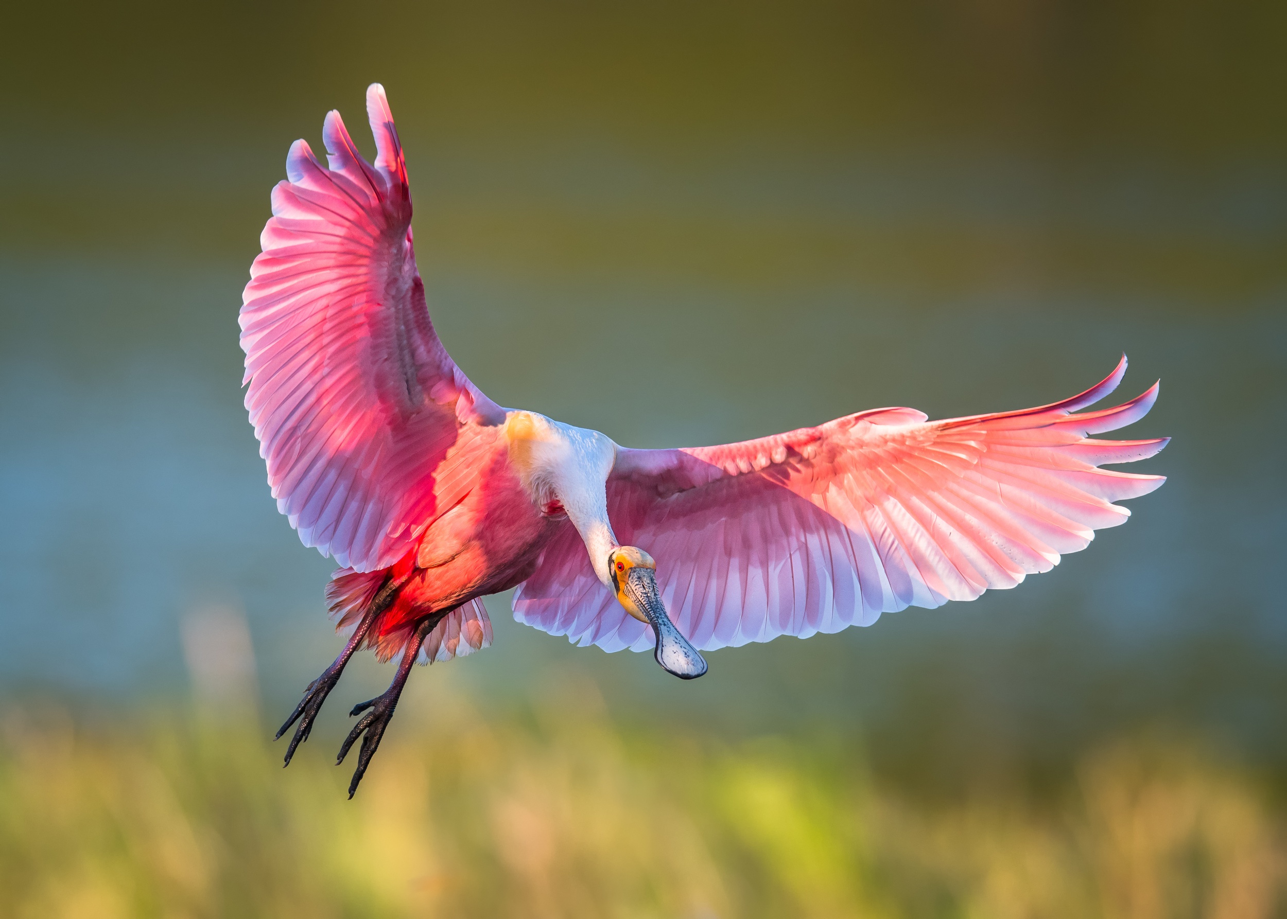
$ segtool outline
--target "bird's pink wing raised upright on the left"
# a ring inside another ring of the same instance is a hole
[[[305,546],[359,571],[391,565],[467,490],[483,429],[505,420],[429,319],[380,84],[367,113],[375,165],[338,112],[328,166],[291,145],[241,309],[246,408],[277,506]]]

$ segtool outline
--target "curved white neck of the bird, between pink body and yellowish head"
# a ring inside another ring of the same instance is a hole
[[[535,412],[510,412],[505,427],[510,461],[528,496],[538,507],[557,498],[586,543],[595,575],[610,586],[607,556],[620,543],[607,519],[606,483],[616,444]]]

